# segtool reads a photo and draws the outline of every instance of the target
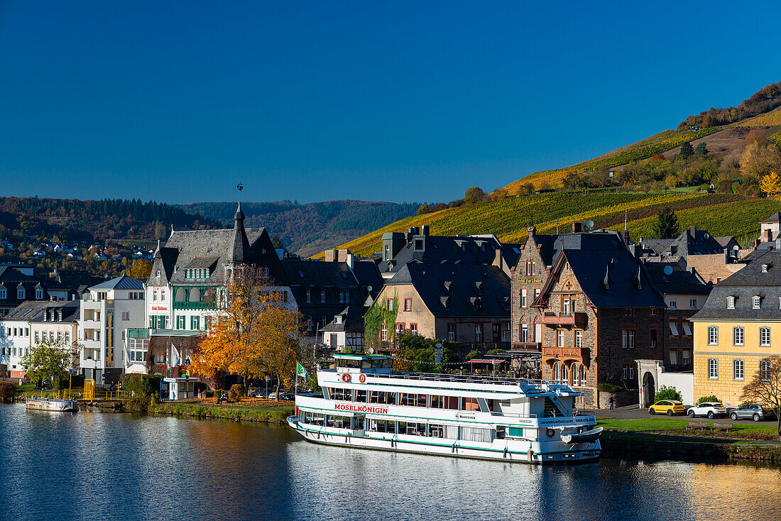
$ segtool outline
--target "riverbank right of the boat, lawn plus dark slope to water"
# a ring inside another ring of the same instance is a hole
[[[747,423],[727,431],[686,430],[686,419],[598,419],[604,427],[602,454],[633,458],[747,459],[781,462],[776,424]],[[712,426],[708,422],[708,426]]]

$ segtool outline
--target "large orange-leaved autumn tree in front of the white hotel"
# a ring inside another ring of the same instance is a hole
[[[213,294],[212,328],[198,344],[190,368],[212,380],[221,372],[276,377],[279,399],[280,384],[293,380],[303,356],[301,314],[259,269],[241,266],[233,273]]]

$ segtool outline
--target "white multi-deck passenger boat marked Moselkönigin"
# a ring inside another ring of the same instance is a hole
[[[334,355],[323,395],[295,397],[287,423],[308,441],[507,462],[598,459],[596,417],[566,384],[491,376],[394,373],[380,355]]]

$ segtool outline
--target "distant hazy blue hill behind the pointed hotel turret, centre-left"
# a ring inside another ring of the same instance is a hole
[[[315,255],[327,248],[351,241],[415,215],[416,202],[326,201],[301,205],[298,202],[242,202],[246,226],[266,227],[279,236],[285,248],[299,255]],[[235,202],[194,202],[182,205],[187,212],[232,226]]]

